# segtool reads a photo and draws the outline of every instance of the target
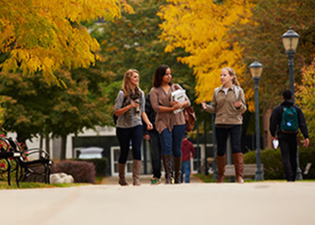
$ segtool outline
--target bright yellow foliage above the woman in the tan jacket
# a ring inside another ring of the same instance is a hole
[[[158,15],[163,20],[161,40],[167,41],[166,51],[183,48],[189,56],[178,58],[193,67],[196,77],[196,102],[211,101],[213,90],[220,84],[220,69],[233,67],[242,83],[248,73],[242,61],[242,48],[232,43],[229,29],[248,23],[252,16],[251,1],[167,0]],[[247,94],[246,94],[247,95]],[[254,103],[248,103],[254,110]]]

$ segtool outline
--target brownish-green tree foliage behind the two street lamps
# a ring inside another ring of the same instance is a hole
[[[243,48],[243,63],[255,58],[264,65],[259,81],[259,102],[263,112],[282,101],[282,92],[289,88],[289,67],[282,35],[290,27],[301,35],[294,56],[295,84],[301,84],[301,69],[310,65],[315,52],[315,2],[307,0],[260,0],[253,8],[249,23],[238,25],[229,32],[230,41]],[[248,71],[248,69],[247,69]],[[246,90],[254,86],[249,72],[244,73],[242,85]],[[248,92],[247,92],[248,93]],[[254,99],[254,93],[248,95]]]

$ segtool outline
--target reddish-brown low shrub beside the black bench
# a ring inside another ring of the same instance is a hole
[[[72,175],[75,183],[94,183],[95,181],[95,166],[90,162],[62,160],[52,166],[51,174],[55,173]]]

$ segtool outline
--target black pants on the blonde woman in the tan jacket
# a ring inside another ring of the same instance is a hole
[[[217,155],[222,157],[226,154],[228,137],[230,137],[232,153],[242,152],[240,149],[241,132],[242,132],[241,125],[234,125],[229,128],[216,127],[215,134],[217,136],[218,145]]]

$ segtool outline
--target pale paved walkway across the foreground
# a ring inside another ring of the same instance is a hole
[[[5,225],[315,223],[315,183],[86,185],[1,190]]]

